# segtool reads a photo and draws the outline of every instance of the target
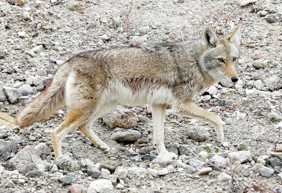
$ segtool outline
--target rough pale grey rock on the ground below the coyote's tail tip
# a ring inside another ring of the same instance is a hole
[[[14,164],[16,167],[19,165],[27,165],[32,163],[31,155],[36,153],[37,152],[35,148],[31,145],[28,145],[20,150],[14,157],[12,157],[9,162]]]

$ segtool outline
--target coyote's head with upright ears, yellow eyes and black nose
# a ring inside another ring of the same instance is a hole
[[[215,81],[225,78],[230,83],[238,81],[236,63],[240,52],[241,24],[228,36],[219,38],[210,26],[206,26],[202,36],[202,68]]]

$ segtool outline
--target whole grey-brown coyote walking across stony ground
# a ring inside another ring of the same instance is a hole
[[[58,69],[45,90],[17,114],[16,123],[28,126],[67,105],[65,120],[51,133],[55,157],[62,155],[61,141],[75,128],[106,154],[110,148],[91,130],[94,120],[118,103],[151,104],[154,144],[158,157],[166,157],[173,156],[164,146],[164,116],[171,104],[174,113],[212,123],[215,142],[222,145],[221,118],[192,101],[222,79],[237,82],[240,28],[222,38],[206,26],[202,38],[191,42],[81,52]]]

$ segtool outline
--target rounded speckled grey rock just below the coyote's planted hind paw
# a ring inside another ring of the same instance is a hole
[[[80,170],[80,166],[76,160],[73,160],[72,157],[70,157],[70,154],[63,154],[57,157],[55,164],[59,167],[59,169],[67,170],[69,172]]]

